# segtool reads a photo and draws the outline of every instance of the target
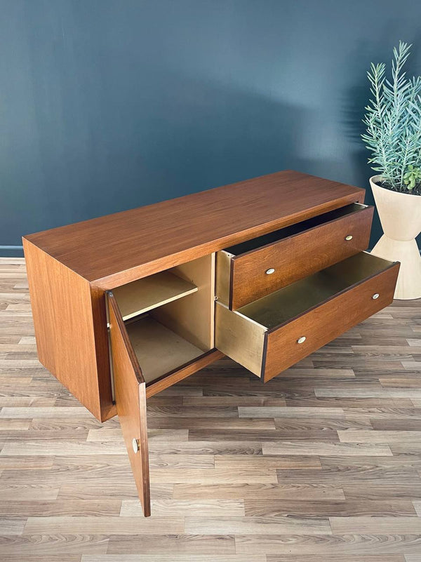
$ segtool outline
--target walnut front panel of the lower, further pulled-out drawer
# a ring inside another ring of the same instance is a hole
[[[293,321],[269,330],[262,365],[264,382],[390,305],[398,272],[396,263]]]

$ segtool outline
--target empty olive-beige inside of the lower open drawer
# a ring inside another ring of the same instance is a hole
[[[250,302],[236,312],[270,330],[300,316],[350,286],[384,271],[389,265],[392,265],[392,262],[361,252]]]

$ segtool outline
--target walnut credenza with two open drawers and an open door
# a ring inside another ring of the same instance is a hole
[[[363,199],[288,170],[24,237],[39,360],[118,413],[146,516],[149,396],[224,354],[266,382],[392,302]]]

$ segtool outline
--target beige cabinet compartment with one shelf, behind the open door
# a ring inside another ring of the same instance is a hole
[[[214,347],[215,254],[113,290],[145,382]]]

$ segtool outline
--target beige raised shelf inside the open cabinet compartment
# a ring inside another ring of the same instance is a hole
[[[197,287],[171,272],[160,272],[113,289],[123,320],[196,292]]]

